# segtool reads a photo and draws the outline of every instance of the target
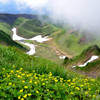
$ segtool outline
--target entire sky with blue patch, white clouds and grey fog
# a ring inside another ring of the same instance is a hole
[[[100,0],[0,0],[0,12],[49,14],[54,21],[100,32]]]

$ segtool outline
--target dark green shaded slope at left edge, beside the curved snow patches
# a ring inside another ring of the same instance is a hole
[[[20,44],[18,44],[15,41],[13,41],[8,34],[6,34],[5,32],[3,32],[1,30],[0,30],[0,44],[16,47],[21,50],[26,50],[23,46],[21,46]]]

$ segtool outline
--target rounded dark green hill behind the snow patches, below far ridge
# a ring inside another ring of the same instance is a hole
[[[25,38],[31,38],[36,35],[50,35],[58,29],[59,28],[54,25],[43,23],[39,19],[34,19],[23,23],[23,25],[18,28],[18,32]]]

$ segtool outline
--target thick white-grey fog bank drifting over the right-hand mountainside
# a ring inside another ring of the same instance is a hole
[[[100,0],[49,0],[47,10],[53,21],[99,34]]]

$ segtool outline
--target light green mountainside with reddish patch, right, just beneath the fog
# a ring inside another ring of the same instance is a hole
[[[98,37],[90,36],[87,32],[82,30],[74,30],[66,28],[65,31],[59,31],[53,34],[54,43],[64,52],[73,57],[81,54],[84,49],[89,46],[98,45],[100,47],[100,39]]]

